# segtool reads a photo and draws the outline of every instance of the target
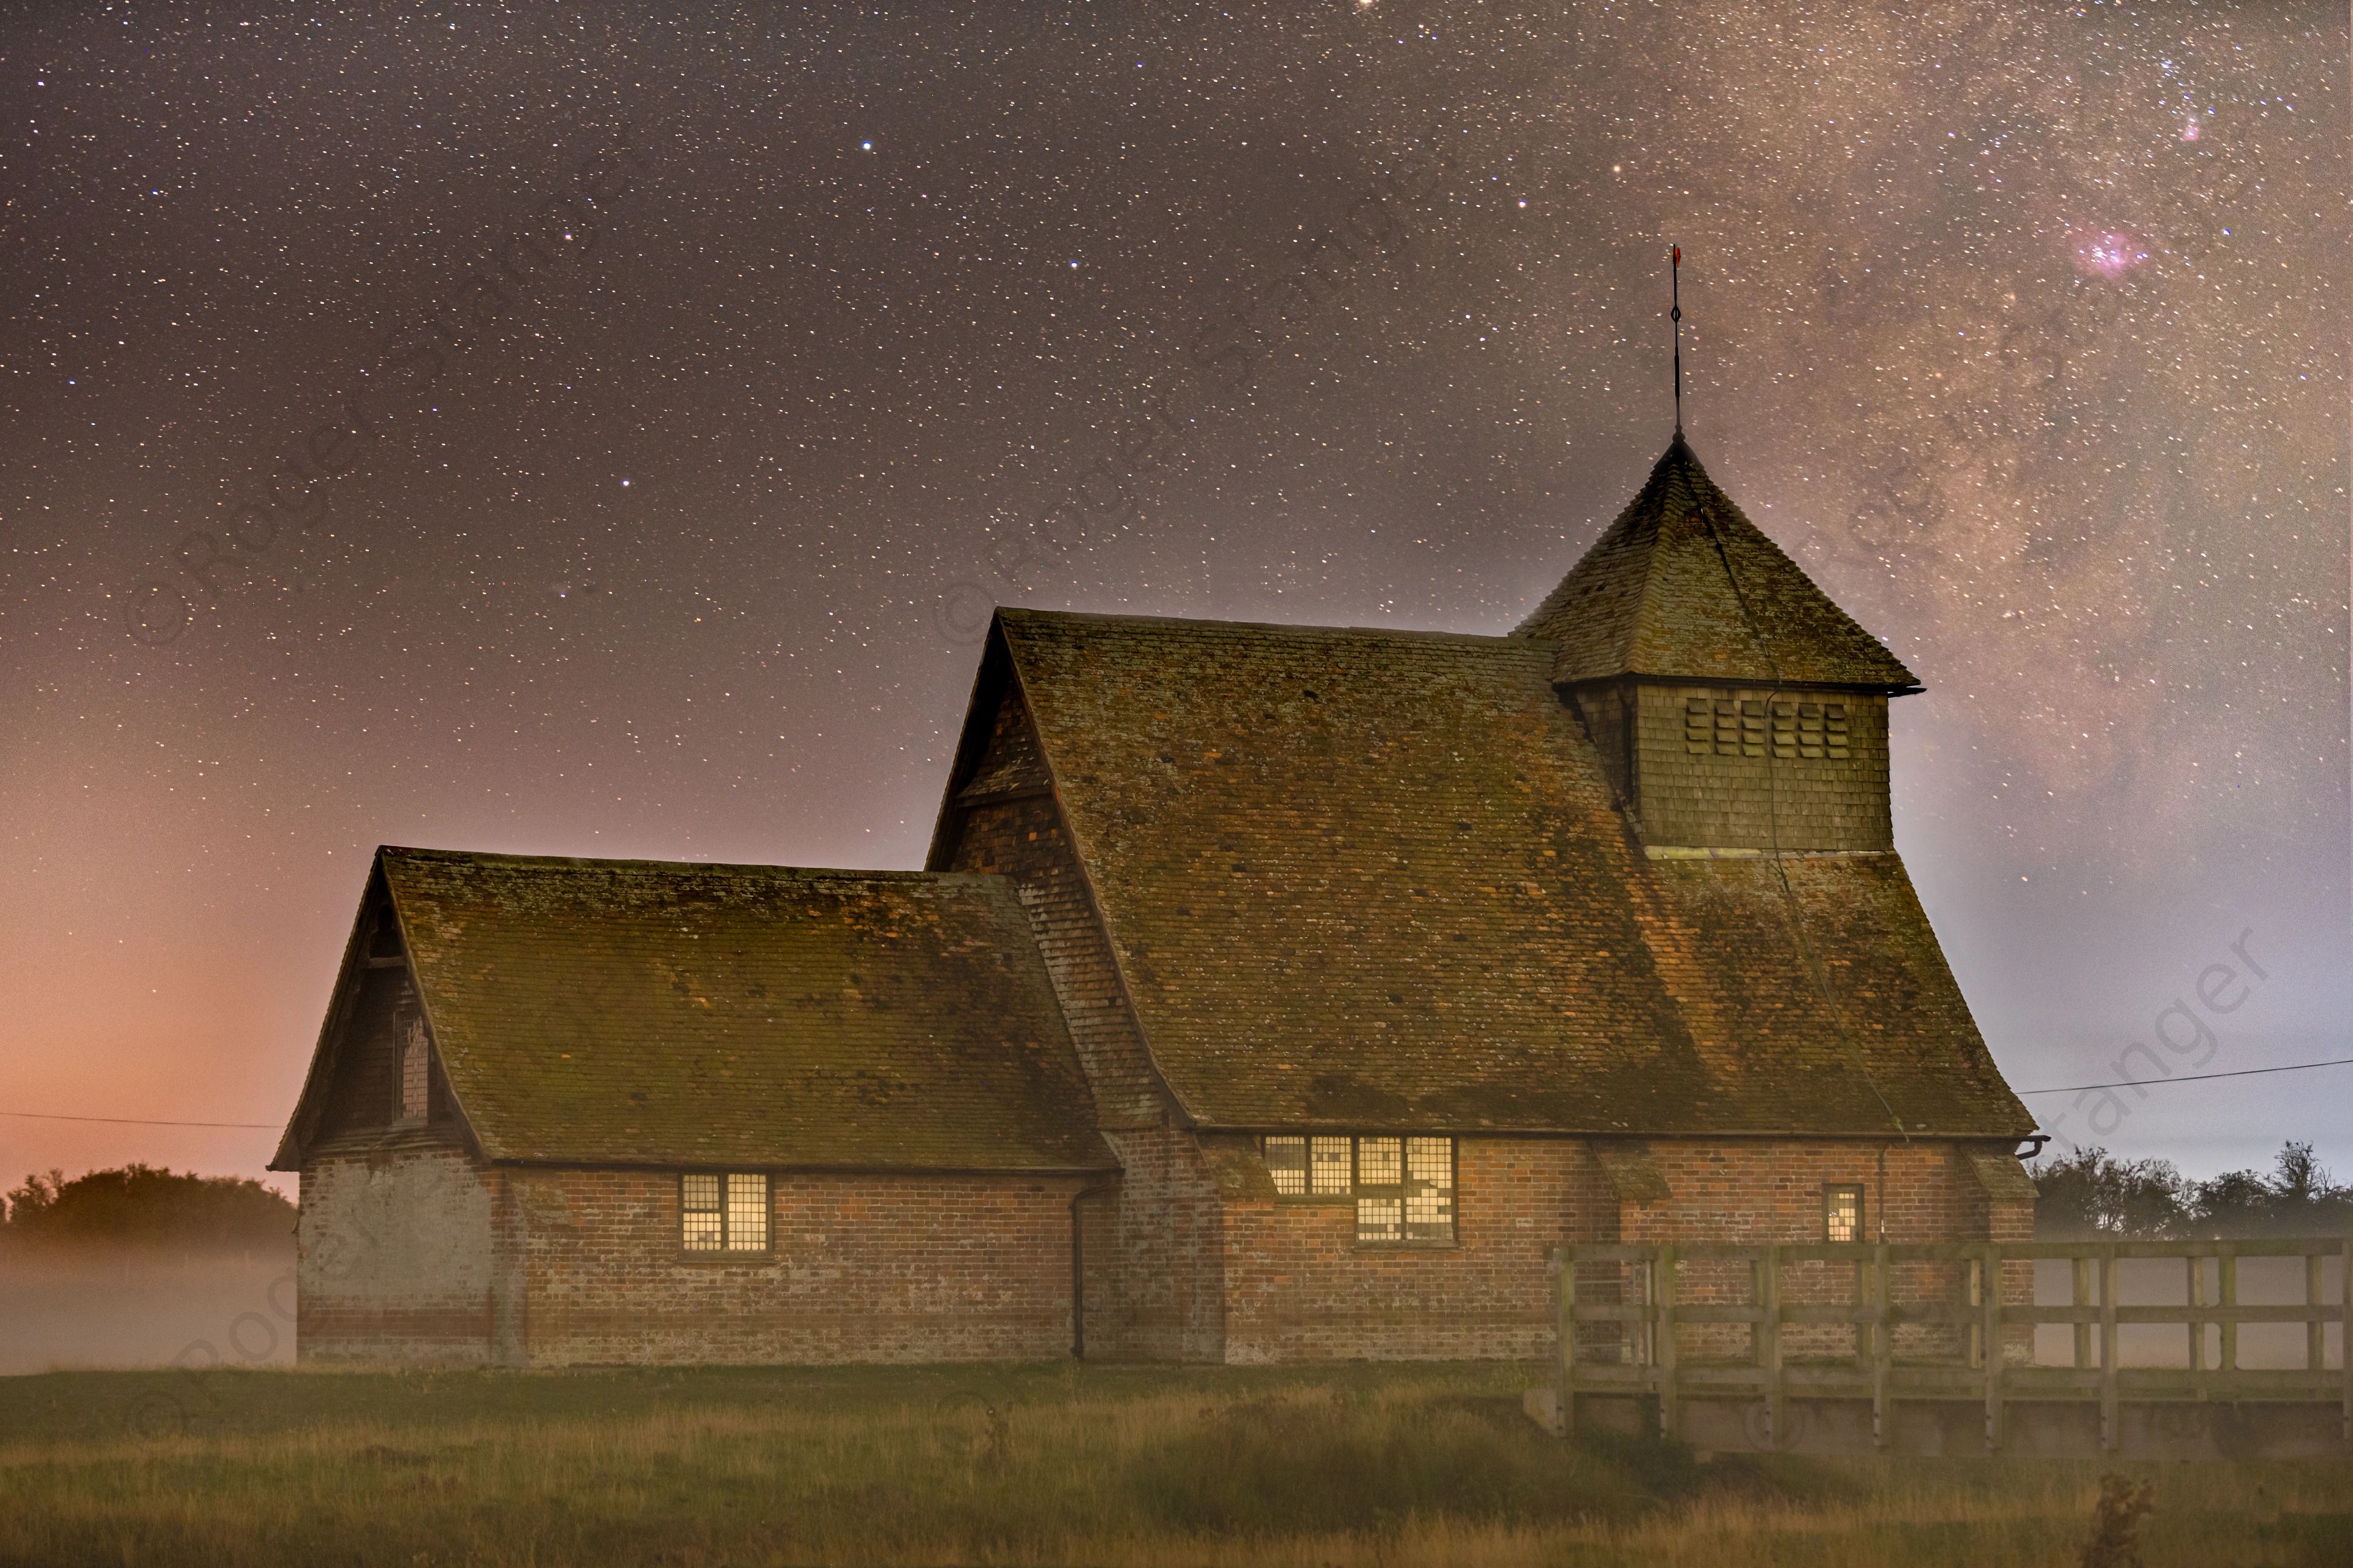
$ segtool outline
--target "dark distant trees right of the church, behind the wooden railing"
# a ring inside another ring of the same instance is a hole
[[[2353,1187],[2313,1159],[2313,1145],[2289,1143],[2261,1171],[2224,1171],[2191,1180],[2165,1159],[2115,1159],[2075,1150],[2031,1164],[2042,1241],[2186,1241],[2207,1237],[2353,1234]]]

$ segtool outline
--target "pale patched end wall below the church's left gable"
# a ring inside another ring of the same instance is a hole
[[[320,1150],[294,1225],[296,1359],[492,1361],[494,1187],[426,1133]]]

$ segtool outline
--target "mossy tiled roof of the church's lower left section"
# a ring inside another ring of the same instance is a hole
[[[492,1159],[1113,1164],[1002,877],[379,856]]]

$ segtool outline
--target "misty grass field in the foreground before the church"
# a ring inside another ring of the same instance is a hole
[[[2052,1568],[2097,1465],[1548,1439],[1527,1368],[42,1373],[0,1563],[1967,1563]],[[2129,1465],[2151,1568],[2353,1563],[2353,1467]]]

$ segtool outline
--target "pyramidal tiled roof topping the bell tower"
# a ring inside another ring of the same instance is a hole
[[[1779,672],[1791,684],[1920,689],[1715,489],[1680,430],[1633,505],[1513,635],[1560,644],[1555,684],[1619,675],[1762,684]]]

